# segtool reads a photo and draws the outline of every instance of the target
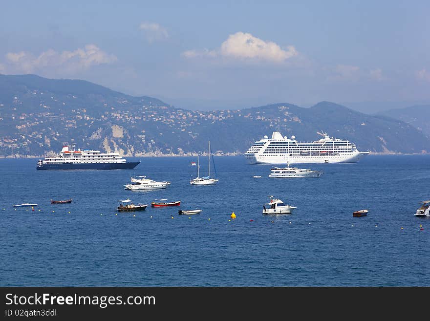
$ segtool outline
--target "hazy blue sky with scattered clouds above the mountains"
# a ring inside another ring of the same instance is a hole
[[[430,1],[397,0],[2,1],[0,73],[190,109],[376,112],[430,102],[429,12]]]

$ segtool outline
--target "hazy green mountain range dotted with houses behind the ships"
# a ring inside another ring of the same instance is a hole
[[[42,156],[70,143],[125,156],[190,155],[205,151],[208,140],[215,153],[240,154],[273,131],[299,141],[317,140],[324,131],[373,152],[430,152],[424,122],[392,114],[331,102],[187,110],[83,80],[0,75],[0,156]]]

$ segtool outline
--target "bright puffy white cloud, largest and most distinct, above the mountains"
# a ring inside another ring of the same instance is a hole
[[[250,33],[237,32],[221,43],[219,49],[187,50],[182,53],[182,56],[186,58],[221,56],[239,60],[282,63],[298,54],[292,45],[282,49],[277,43],[261,40]]]

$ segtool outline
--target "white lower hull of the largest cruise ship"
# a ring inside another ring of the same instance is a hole
[[[259,156],[245,154],[248,164],[324,164],[324,163],[358,163],[368,152],[354,152],[344,155],[322,156]]]

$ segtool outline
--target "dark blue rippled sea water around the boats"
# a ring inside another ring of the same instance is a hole
[[[36,171],[36,161],[0,160],[1,286],[430,286],[430,219],[413,216],[430,199],[430,156],[310,164],[324,174],[294,179],[215,157],[213,186],[189,184],[191,157],[142,158],[130,171]],[[126,191],[131,175],[172,184]],[[263,215],[268,195],[297,209]],[[181,206],[118,213],[126,198]],[[25,202],[38,206],[12,207]]]

